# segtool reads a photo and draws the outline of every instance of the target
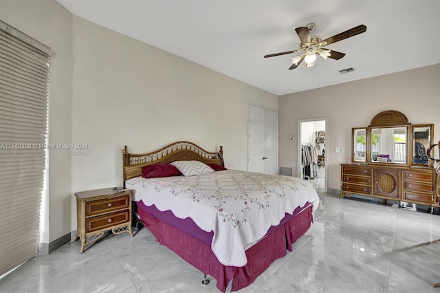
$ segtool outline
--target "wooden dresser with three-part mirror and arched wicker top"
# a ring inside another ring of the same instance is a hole
[[[351,164],[341,164],[340,197],[440,207],[440,170],[434,169],[439,160],[433,158],[440,142],[433,142],[434,124],[412,124],[399,111],[377,113],[368,127],[351,129]]]

